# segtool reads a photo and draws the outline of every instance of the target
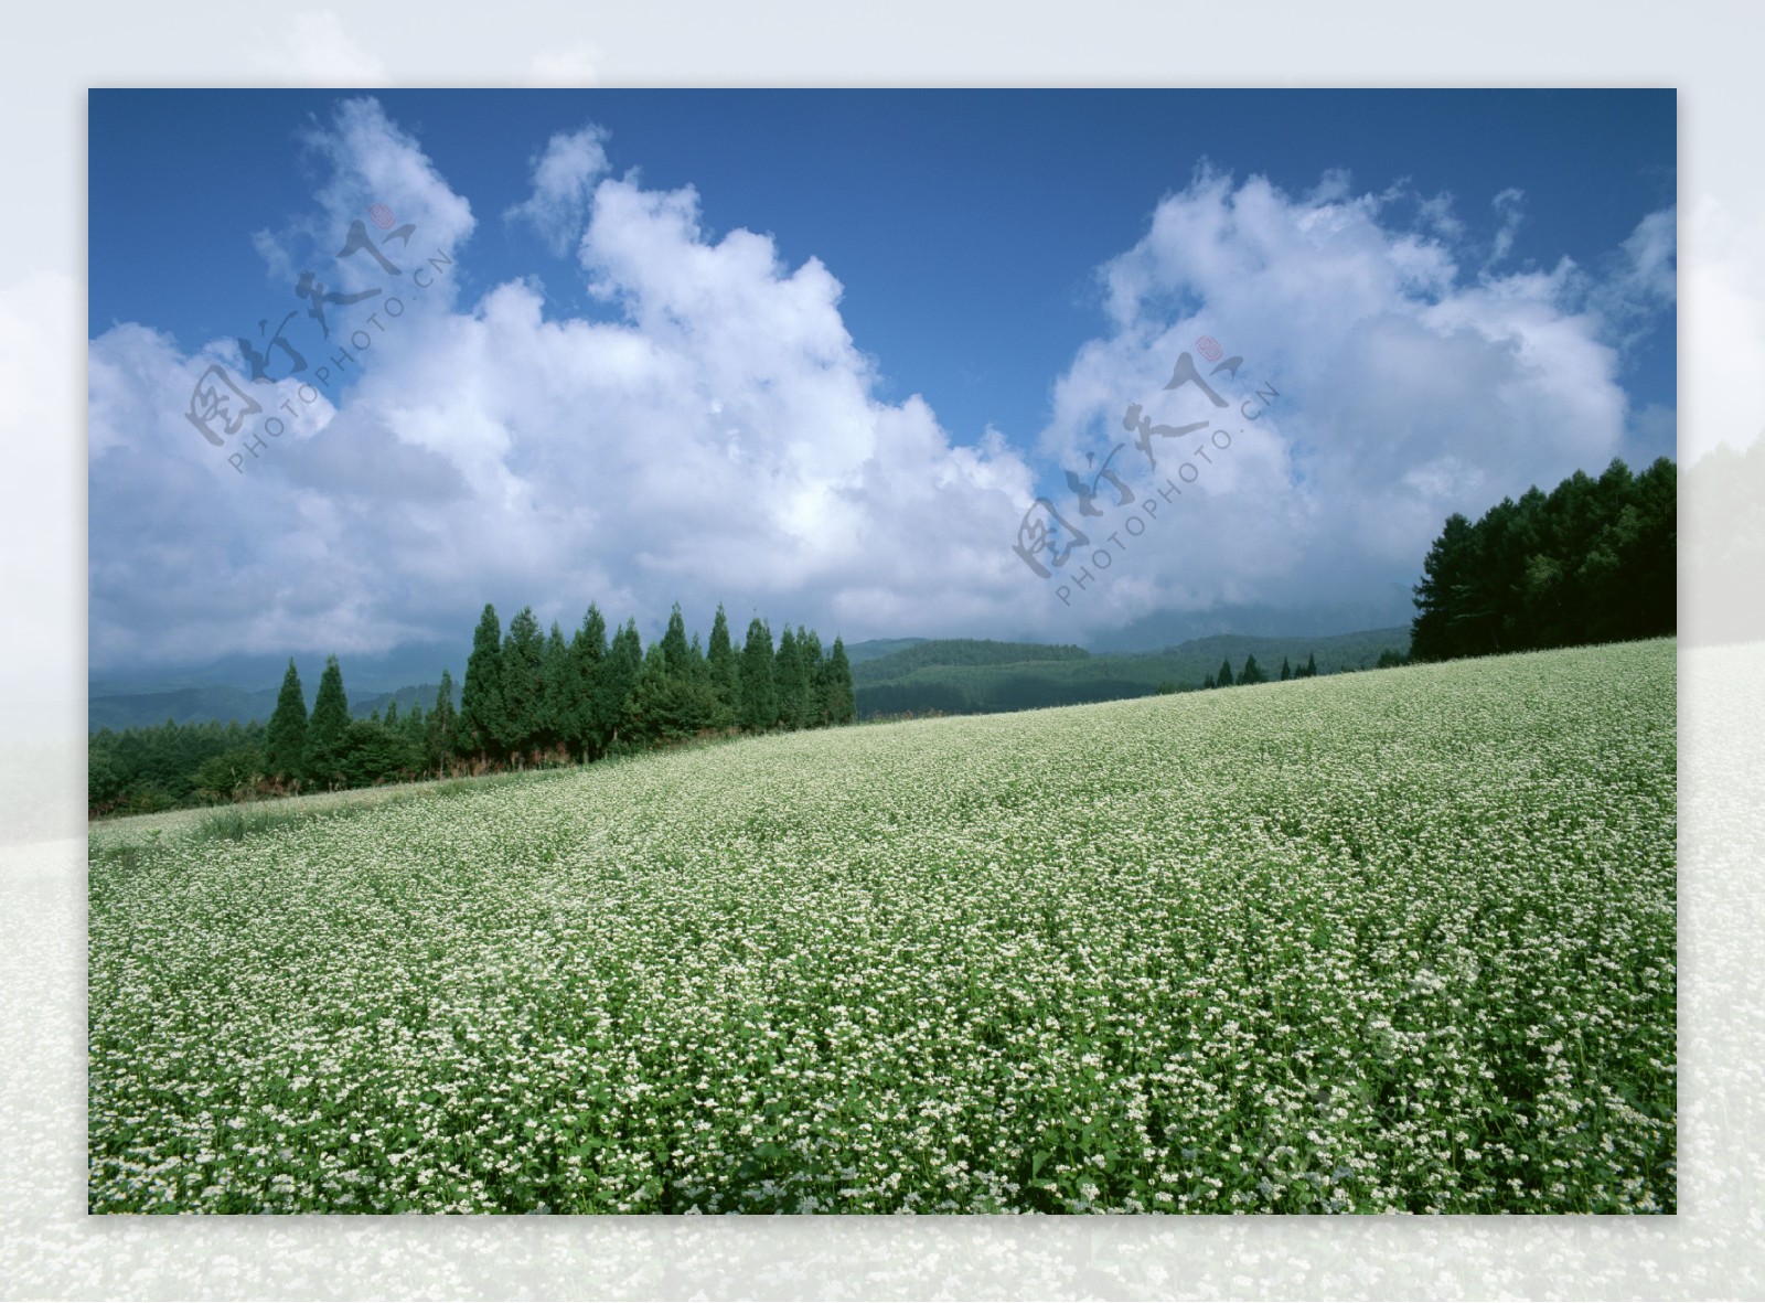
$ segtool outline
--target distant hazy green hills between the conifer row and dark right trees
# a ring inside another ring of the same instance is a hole
[[[852,667],[860,719],[943,712],[983,715],[1036,706],[1070,706],[1144,697],[1165,685],[1198,689],[1230,659],[1232,671],[1257,657],[1271,678],[1281,657],[1303,666],[1317,657],[1320,674],[1371,669],[1386,648],[1405,652],[1408,629],[1371,629],[1334,637],[1257,637],[1220,634],[1165,652],[1094,655],[1040,643],[928,641]]]

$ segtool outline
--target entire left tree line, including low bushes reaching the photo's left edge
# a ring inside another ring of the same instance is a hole
[[[694,736],[851,724],[845,644],[812,629],[748,623],[738,648],[724,607],[711,636],[687,637],[680,604],[642,646],[637,621],[612,630],[593,604],[567,639],[540,632],[533,607],[508,623],[485,604],[464,683],[441,673],[434,704],[385,717],[349,713],[342,669],[328,657],[312,712],[293,659],[268,724],[104,731],[88,747],[94,814],[210,803],[244,795],[365,787],[425,773],[588,763]]]

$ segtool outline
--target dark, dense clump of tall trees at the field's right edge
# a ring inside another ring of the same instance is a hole
[[[1659,637],[1677,625],[1679,471],[1619,459],[1548,496],[1447,517],[1416,586],[1410,655],[1447,660]]]

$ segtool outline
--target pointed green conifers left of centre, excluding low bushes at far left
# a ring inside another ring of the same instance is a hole
[[[524,607],[503,632],[485,604],[455,704],[441,671],[434,706],[353,720],[335,657],[325,662],[311,717],[295,662],[288,662],[265,731],[263,775],[281,786],[357,787],[420,772],[593,761],[614,752],[741,729],[812,729],[856,719],[845,644],[787,625],[773,644],[755,618],[738,650],[724,607],[708,646],[688,641],[680,604],[648,650],[628,620],[607,636],[593,604],[567,639],[554,621],[540,632]]]

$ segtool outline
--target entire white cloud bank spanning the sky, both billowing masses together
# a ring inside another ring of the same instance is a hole
[[[609,175],[595,127],[545,145],[512,215],[575,251],[612,320],[547,314],[526,279],[459,302],[447,260],[469,258],[471,208],[372,101],[309,143],[330,180],[267,258],[334,252],[381,203],[417,226],[397,254],[411,291],[378,330],[348,309],[367,341],[348,383],[251,387],[286,422],[252,456],[185,411],[207,365],[237,374],[233,341],[184,355],[127,325],[92,343],[95,669],[464,639],[485,600],[565,625],[597,600],[655,629],[680,599],[701,629],[722,600],[738,630],[1059,641],[1165,609],[1401,600],[1446,514],[1603,466],[1626,429],[1587,274],[1467,272],[1447,207],[1356,194],[1345,173],[1288,196],[1204,169],[1167,196],[1101,268],[1108,328],[1055,378],[1031,450],[881,401],[833,268],[713,238],[690,187]],[[1659,267],[1659,235],[1634,267]],[[353,261],[339,286],[388,284]],[[1184,351],[1225,408],[1167,387]],[[1149,427],[1205,426],[1140,448],[1130,404]],[[1027,546],[1038,498],[1070,526],[1055,542],[1087,540],[1064,565]]]

